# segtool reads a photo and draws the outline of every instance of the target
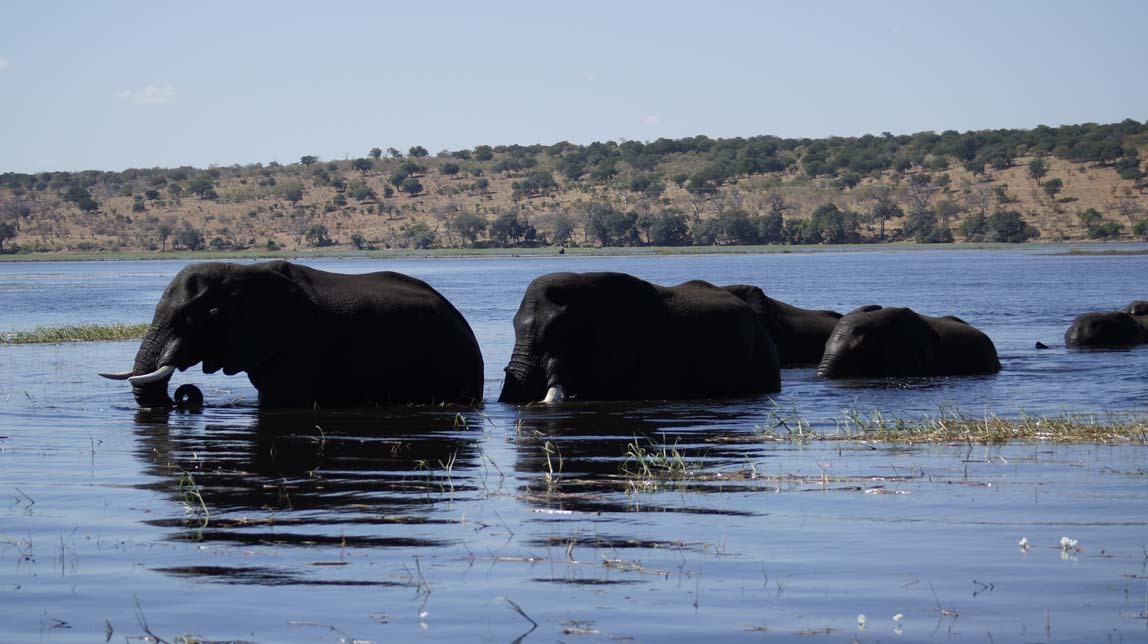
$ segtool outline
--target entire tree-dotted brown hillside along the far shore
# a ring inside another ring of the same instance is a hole
[[[7,253],[1148,239],[1148,125],[0,174]]]

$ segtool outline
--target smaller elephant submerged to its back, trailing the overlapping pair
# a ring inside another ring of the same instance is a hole
[[[987,335],[954,316],[861,307],[843,317],[817,365],[822,378],[990,374],[1001,370]]]

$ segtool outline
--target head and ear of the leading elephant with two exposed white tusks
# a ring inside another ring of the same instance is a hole
[[[130,381],[145,408],[171,406],[172,373],[199,363],[204,373],[247,372],[258,386],[316,316],[292,271],[286,262],[186,266],[163,292],[132,370],[101,375]]]

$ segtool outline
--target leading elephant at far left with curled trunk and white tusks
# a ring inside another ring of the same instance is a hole
[[[156,304],[132,370],[101,375],[130,381],[141,408],[170,408],[171,374],[197,363],[204,373],[247,372],[261,408],[482,398],[471,326],[429,285],[394,272],[348,276],[282,261],[186,266]],[[185,395],[177,390],[177,401]]]

